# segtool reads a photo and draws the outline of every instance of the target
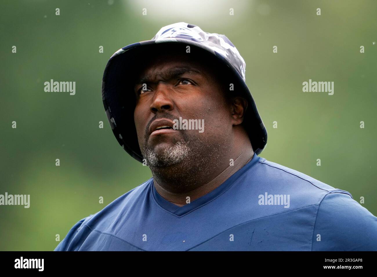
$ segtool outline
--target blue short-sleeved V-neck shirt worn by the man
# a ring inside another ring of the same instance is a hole
[[[55,251],[377,251],[377,217],[349,192],[254,154],[179,207],[153,178],[78,221]]]

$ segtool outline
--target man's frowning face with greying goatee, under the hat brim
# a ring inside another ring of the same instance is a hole
[[[191,55],[159,56],[144,67],[136,81],[134,120],[149,166],[167,167],[211,155],[231,134],[230,105],[223,93],[226,88],[218,83],[210,65]],[[204,132],[173,129],[173,120],[180,117],[204,122]],[[170,129],[158,130],[161,126]]]

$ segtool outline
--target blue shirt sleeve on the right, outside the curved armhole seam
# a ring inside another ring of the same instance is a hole
[[[313,251],[377,251],[377,217],[345,193],[328,193],[317,211]]]

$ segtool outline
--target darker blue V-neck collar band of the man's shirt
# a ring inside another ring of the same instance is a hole
[[[175,205],[165,198],[163,198],[156,190],[155,185],[153,184],[153,178],[152,182],[150,182],[152,188],[150,189],[152,198],[157,202],[159,206],[164,208],[165,210],[169,211],[170,213],[173,213],[177,216],[184,216],[185,214],[196,210],[197,208],[200,208],[204,206],[205,204],[208,204],[212,200],[215,200],[218,196],[225,193],[231,185],[234,184],[234,181],[241,176],[245,171],[249,170],[253,165],[255,165],[261,158],[258,157],[255,153],[253,158],[245,164],[242,168],[240,168],[238,171],[236,171],[233,175],[231,175],[227,180],[225,180],[224,183],[219,185],[217,188],[212,190],[211,192],[203,195],[202,197],[199,197],[198,199],[195,199],[194,201],[190,202],[189,204],[183,205],[182,207],[179,207],[178,205]]]

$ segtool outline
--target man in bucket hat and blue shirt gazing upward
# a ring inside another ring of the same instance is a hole
[[[103,102],[153,178],[78,221],[57,251],[377,250],[377,217],[257,156],[267,132],[224,36],[176,23],[117,51]]]

